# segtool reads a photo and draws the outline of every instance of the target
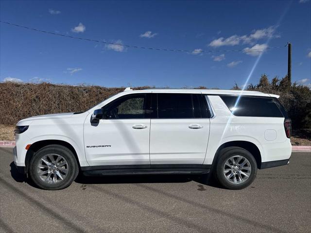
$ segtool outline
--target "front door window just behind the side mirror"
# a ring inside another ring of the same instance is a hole
[[[146,95],[128,95],[104,106],[104,118],[135,119],[145,118]]]

